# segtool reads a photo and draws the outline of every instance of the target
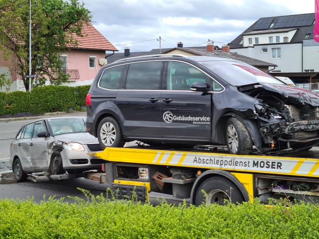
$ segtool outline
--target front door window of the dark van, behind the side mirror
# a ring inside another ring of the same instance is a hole
[[[167,67],[167,90],[191,90],[191,84],[197,81],[206,83],[206,74],[195,67],[177,61],[169,61]]]

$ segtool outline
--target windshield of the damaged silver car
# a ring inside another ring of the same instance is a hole
[[[51,119],[48,123],[53,136],[87,132],[85,118]]]

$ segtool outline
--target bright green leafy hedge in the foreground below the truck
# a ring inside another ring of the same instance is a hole
[[[227,206],[160,206],[110,201],[102,195],[90,202],[67,204],[50,198],[0,201],[0,238],[106,239],[317,239],[319,206],[254,204]]]

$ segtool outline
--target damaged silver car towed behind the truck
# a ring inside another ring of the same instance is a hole
[[[88,154],[99,150],[84,117],[41,119],[21,127],[10,145],[10,164],[17,181],[43,171],[49,175],[83,172],[101,168],[103,160]]]

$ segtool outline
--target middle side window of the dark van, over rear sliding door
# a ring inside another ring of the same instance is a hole
[[[162,61],[131,63],[128,67],[127,90],[160,90]]]

